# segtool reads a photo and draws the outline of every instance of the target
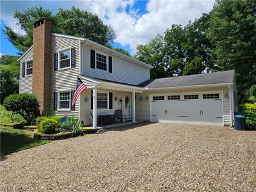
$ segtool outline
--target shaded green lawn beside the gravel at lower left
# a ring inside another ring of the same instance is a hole
[[[17,152],[25,148],[35,147],[49,141],[35,140],[33,131],[13,129],[13,127],[0,126],[1,155]]]

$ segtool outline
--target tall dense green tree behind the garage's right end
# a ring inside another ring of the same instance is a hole
[[[256,1],[218,0],[207,33],[220,70],[236,70],[240,98],[256,84]]]

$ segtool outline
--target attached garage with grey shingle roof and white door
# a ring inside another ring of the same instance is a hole
[[[136,96],[136,119],[205,125],[234,125],[234,70],[150,79]]]

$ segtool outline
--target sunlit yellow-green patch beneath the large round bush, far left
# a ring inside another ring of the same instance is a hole
[[[0,105],[0,124],[23,124],[26,120],[19,115],[14,114],[11,111],[7,111],[4,106]]]

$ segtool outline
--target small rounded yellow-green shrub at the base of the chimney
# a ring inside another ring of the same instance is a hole
[[[57,132],[58,125],[59,123],[56,120],[45,118],[45,120],[42,120],[40,123],[40,129],[38,131],[44,134],[54,134]]]

